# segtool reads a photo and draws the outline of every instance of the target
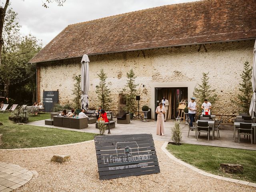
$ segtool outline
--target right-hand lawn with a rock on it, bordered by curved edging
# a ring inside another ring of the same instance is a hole
[[[228,178],[256,182],[256,151],[254,150],[192,144],[182,144],[180,146],[168,144],[167,150],[176,156],[176,158],[179,158],[180,160],[206,172]],[[220,163],[242,164],[244,166],[244,173],[222,173],[219,170]]]

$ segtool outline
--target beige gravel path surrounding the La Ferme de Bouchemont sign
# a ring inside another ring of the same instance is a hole
[[[15,192],[124,192],[124,191],[221,191],[256,192],[256,188],[198,174],[178,164],[161,150],[164,142],[155,141],[160,174],[99,180],[94,142],[28,150],[0,150],[0,161],[38,172]],[[54,154],[69,154],[65,164],[51,163]]]

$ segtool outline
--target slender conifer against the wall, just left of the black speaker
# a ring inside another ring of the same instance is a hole
[[[136,94],[137,94],[136,87],[138,86],[138,84],[135,84],[136,76],[132,69],[128,73],[126,73],[126,77],[128,78],[128,80],[126,82],[127,88],[123,88],[123,94],[124,94],[124,98],[126,100],[126,107],[124,108],[124,110],[126,110],[127,112],[134,112],[137,108],[137,106],[136,106]]]

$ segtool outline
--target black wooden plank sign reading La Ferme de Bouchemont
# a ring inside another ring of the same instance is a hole
[[[151,134],[94,136],[100,180],[160,173]]]

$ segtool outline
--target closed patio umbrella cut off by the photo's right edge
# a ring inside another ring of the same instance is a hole
[[[256,113],[256,40],[254,44],[254,57],[253,57],[253,63],[252,63],[252,101],[249,109],[249,113],[252,116],[252,118],[255,118]]]

